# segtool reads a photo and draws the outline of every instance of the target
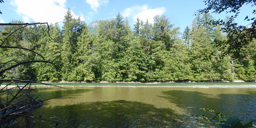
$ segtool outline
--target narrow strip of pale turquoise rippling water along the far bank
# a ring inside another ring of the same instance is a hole
[[[26,83],[19,83],[24,86]],[[46,85],[45,85],[46,84]],[[194,82],[194,83],[79,83],[79,82],[65,82],[65,83],[34,83],[30,87],[61,87],[71,89],[74,87],[123,87],[123,88],[144,88],[144,87],[167,87],[167,88],[256,88],[255,82]],[[4,86],[1,86],[2,88]],[[16,85],[9,85],[7,88],[14,88]]]

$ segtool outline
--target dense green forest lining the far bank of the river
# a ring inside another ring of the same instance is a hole
[[[0,65],[13,60],[40,60],[41,55],[58,65],[29,63],[3,76],[24,80],[38,76],[35,81],[53,82],[256,80],[255,40],[243,45],[240,52],[223,55],[229,44],[220,47],[215,42],[227,40],[227,34],[221,31],[225,26],[207,24],[215,20],[210,13],[197,14],[184,32],[166,15],[156,15],[153,20],[149,23],[137,18],[131,27],[129,20],[118,13],[116,18],[101,20],[97,34],[89,34],[86,23],[74,18],[68,9],[63,27],[51,25],[50,36],[44,24],[5,26],[1,40],[16,30],[8,37],[8,46],[32,49],[38,54],[1,48]],[[228,22],[229,17],[225,20]]]

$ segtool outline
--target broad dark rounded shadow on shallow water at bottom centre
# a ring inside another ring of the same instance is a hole
[[[53,120],[67,123],[59,124],[59,127],[180,127],[178,115],[172,109],[155,108],[153,105],[126,100],[105,102],[80,103],[69,106],[56,106],[47,109],[55,116]],[[47,115],[42,118],[49,118]],[[53,122],[43,123],[34,120],[33,127],[55,127]],[[33,122],[31,120],[31,122]],[[58,127],[58,126],[56,126]]]

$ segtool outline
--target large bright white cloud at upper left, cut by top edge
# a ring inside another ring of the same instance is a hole
[[[16,12],[23,17],[25,22],[36,21],[36,22],[48,22],[56,23],[63,21],[64,16],[67,12],[66,0],[13,0],[10,4],[17,7]],[[75,18],[75,15],[71,11]],[[80,19],[84,20],[83,14],[80,13]]]

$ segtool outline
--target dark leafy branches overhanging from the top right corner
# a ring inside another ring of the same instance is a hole
[[[233,0],[205,0],[207,7],[198,10],[199,13],[208,13],[212,10],[212,13],[221,13],[226,11],[227,13],[235,13],[227,20],[209,20],[206,22],[208,25],[222,25],[222,32],[227,33],[227,40],[219,41],[216,40],[216,46],[225,49],[222,55],[228,55],[229,53],[239,56],[237,53],[241,52],[244,45],[250,44],[253,39],[256,38],[256,19],[244,16],[247,21],[251,20],[251,27],[238,26],[235,23],[235,18],[237,18],[240,8],[244,4],[249,4],[251,6],[256,5],[254,0],[243,0],[243,1],[233,1]],[[250,13],[250,12],[248,12]],[[252,11],[255,14],[255,10]],[[223,56],[222,56],[223,57]]]

